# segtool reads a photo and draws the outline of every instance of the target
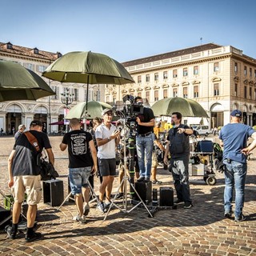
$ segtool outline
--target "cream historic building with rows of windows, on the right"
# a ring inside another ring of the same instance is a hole
[[[106,102],[120,104],[126,94],[150,106],[162,98],[191,98],[206,110],[210,128],[230,122],[234,109],[256,125],[256,60],[242,50],[210,43],[122,64],[135,84],[106,86]]]

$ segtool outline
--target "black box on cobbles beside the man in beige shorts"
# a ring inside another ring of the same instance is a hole
[[[43,202],[50,206],[60,206],[64,199],[63,181],[52,179],[42,182]]]

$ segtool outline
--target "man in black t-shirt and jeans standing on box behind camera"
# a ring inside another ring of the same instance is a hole
[[[143,104],[141,97],[134,98],[135,104]],[[136,118],[138,123],[136,136],[136,150],[138,156],[139,178],[138,182],[150,182],[152,166],[152,153],[154,146],[154,113],[150,108],[144,107],[143,114]],[[146,162],[145,162],[146,159]]]

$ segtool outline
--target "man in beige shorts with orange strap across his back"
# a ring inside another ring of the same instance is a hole
[[[49,161],[54,165],[54,154],[51,150],[50,141],[46,134],[42,133],[42,122],[34,120],[30,124],[30,133],[38,140],[39,150],[30,143],[26,134],[21,134],[15,142],[8,159],[9,187],[14,187],[14,208],[13,221],[11,229],[7,230],[9,238],[16,238],[18,230],[18,219],[21,213],[22,202],[25,192],[27,194],[26,202],[28,210],[26,242],[34,241],[40,238],[41,234],[33,230],[34,221],[37,214],[37,204],[42,198],[40,168],[37,166],[38,154],[45,148]]]

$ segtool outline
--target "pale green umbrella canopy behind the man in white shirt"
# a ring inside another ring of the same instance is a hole
[[[86,117],[86,107],[87,107],[87,115]],[[71,119],[71,118],[96,118],[96,117],[101,117],[102,116],[102,110],[104,109],[112,109],[112,106],[110,106],[107,103],[104,102],[95,102],[91,101],[86,104],[86,102],[80,102],[76,106],[73,106],[69,113],[66,114],[65,119]]]

